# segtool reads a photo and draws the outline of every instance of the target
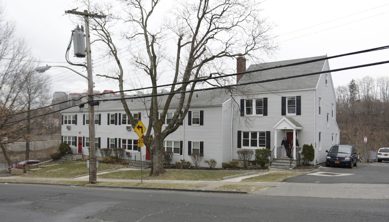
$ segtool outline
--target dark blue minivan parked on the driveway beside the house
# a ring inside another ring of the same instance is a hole
[[[357,166],[357,150],[352,145],[335,145],[326,150],[326,166],[345,165],[349,168]]]

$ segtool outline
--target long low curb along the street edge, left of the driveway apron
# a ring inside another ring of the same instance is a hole
[[[103,187],[103,188],[119,188],[119,189],[141,189],[141,190],[160,190],[160,191],[186,191],[186,192],[201,192],[201,193],[229,193],[229,194],[247,194],[247,191],[214,191],[214,190],[191,190],[191,189],[174,189],[174,188],[155,188],[155,187],[119,187],[119,186],[101,186],[101,185],[79,185],[79,184],[49,184],[49,183],[34,183],[34,182],[3,182],[9,184],[41,184],[41,185],[59,185],[72,187]]]

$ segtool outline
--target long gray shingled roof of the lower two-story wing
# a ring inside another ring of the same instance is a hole
[[[189,94],[188,94],[189,95]],[[139,95],[136,95],[139,96]],[[130,110],[142,110],[145,109],[145,104],[141,99],[131,99],[131,97],[134,96],[126,96],[127,99],[127,105],[130,108]],[[180,94],[174,95],[172,102],[170,103],[171,108],[175,108],[178,106]],[[217,89],[217,90],[207,90],[207,91],[198,91],[193,93],[191,106],[217,106],[223,104],[226,100],[228,100],[231,96],[228,94],[226,89]],[[120,97],[103,97],[99,98],[95,96],[95,100],[100,99],[114,99],[114,98],[120,98]],[[159,104],[165,104],[166,102],[166,96],[159,97]],[[187,99],[187,97],[186,97]],[[147,108],[150,107],[151,104],[151,97],[145,98]],[[162,109],[163,107],[161,107]],[[82,110],[88,110],[88,106],[84,106],[84,108],[81,108]],[[103,111],[103,110],[115,110],[115,109],[122,109],[123,105],[121,101],[105,101],[100,102],[99,106],[95,106],[95,112],[97,111]],[[79,111],[79,107],[72,107],[69,109],[64,110],[64,112],[67,111]]]

